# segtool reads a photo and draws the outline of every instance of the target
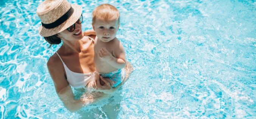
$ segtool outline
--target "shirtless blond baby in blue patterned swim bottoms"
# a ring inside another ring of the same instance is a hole
[[[116,38],[119,24],[119,11],[112,5],[102,4],[92,12],[92,26],[96,32],[95,68],[102,77],[113,81],[112,87],[121,84],[126,75],[124,47]],[[104,82],[101,81],[101,85],[103,84]]]

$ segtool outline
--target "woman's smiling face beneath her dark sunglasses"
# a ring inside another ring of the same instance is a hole
[[[75,23],[75,29],[73,32],[69,32],[67,29],[57,34],[59,38],[67,41],[76,41],[84,37],[82,32],[82,24]]]

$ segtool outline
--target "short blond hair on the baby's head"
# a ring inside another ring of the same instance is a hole
[[[96,19],[104,20],[104,21],[112,21],[118,20],[118,24],[120,23],[120,14],[118,9],[115,6],[110,4],[102,4],[96,7],[92,12],[92,23],[95,22]]]

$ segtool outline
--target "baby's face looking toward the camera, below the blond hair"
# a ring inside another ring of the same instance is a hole
[[[113,40],[116,37],[116,32],[119,27],[118,20],[104,21],[96,19],[92,25],[98,39],[102,42]]]

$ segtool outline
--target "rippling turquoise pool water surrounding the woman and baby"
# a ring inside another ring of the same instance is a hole
[[[0,118],[256,118],[254,0],[69,0],[84,30],[101,3],[121,13],[118,39],[134,71],[101,105],[77,113],[56,95],[40,37],[42,0],[0,1]]]

